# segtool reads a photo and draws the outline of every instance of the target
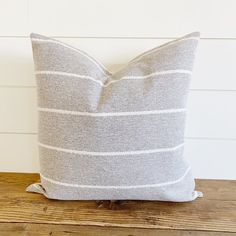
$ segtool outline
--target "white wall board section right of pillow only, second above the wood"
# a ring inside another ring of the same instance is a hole
[[[192,91],[186,136],[236,139],[235,101],[236,92]]]

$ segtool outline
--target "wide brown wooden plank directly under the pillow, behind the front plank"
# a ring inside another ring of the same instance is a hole
[[[193,202],[127,201],[109,210],[98,208],[94,201],[57,201],[26,193],[25,187],[38,178],[37,174],[0,174],[0,223],[236,233],[236,181],[211,185],[211,180],[198,180],[204,198]]]

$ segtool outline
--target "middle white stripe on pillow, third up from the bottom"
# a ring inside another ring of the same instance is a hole
[[[178,113],[178,112],[186,112],[186,108],[151,110],[151,111],[131,111],[131,112],[82,112],[82,111],[68,111],[68,110],[62,110],[62,109],[38,107],[38,111],[59,113],[59,114],[65,114],[65,115],[108,117],[108,116],[141,116],[141,115]]]

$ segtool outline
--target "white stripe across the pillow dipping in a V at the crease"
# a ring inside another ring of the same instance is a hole
[[[148,75],[142,75],[142,76],[123,76],[120,79],[117,80],[110,80],[108,83],[103,83],[102,81],[95,79],[91,76],[87,75],[78,75],[74,73],[68,73],[68,72],[61,72],[61,71],[35,71],[36,75],[62,75],[62,76],[71,76],[71,77],[76,77],[80,79],[87,79],[87,80],[92,80],[98,84],[100,84],[102,87],[108,87],[110,84],[119,82],[121,80],[140,80],[140,79],[147,79],[152,76],[157,76],[157,75],[168,75],[168,74],[192,74],[192,71],[189,70],[165,70],[165,71],[156,71]],[[154,78],[155,79],[155,78]]]

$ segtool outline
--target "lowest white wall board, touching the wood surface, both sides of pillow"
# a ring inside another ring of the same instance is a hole
[[[236,179],[235,146],[236,141],[186,139],[185,159],[196,178]],[[37,135],[0,134],[0,150],[0,172],[39,172]]]

